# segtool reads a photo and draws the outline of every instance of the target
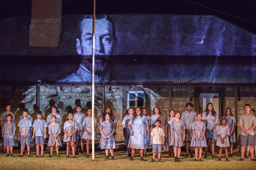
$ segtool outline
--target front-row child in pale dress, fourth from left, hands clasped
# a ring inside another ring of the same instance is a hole
[[[51,147],[51,155],[49,157],[52,157],[52,151],[54,150],[54,145],[56,145],[56,153],[58,156],[58,148],[61,145],[60,141],[60,124],[56,122],[57,118],[52,115],[52,123],[49,124],[48,134],[49,134],[49,141],[48,146]]]

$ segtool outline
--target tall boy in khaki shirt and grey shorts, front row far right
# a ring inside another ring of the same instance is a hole
[[[245,154],[245,147],[246,145],[250,146],[250,152],[251,152],[251,160],[256,161],[254,158],[254,127],[256,125],[255,123],[255,117],[253,114],[250,113],[251,106],[249,104],[245,105],[245,113],[241,115],[239,120],[239,126],[242,129],[241,130],[241,158],[239,160],[244,160],[243,156]]]

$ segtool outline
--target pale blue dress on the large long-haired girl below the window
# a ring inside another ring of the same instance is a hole
[[[146,126],[148,126],[148,123],[146,122],[146,117],[144,115],[142,117],[136,116],[135,120],[133,120],[133,117],[131,117],[128,123],[131,124],[131,129],[134,133],[133,136],[130,136],[128,147],[138,150],[144,150],[147,147],[147,145],[145,144],[148,140],[146,136]]]

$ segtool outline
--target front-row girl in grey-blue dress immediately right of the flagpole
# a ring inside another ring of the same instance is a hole
[[[113,134],[116,127],[114,126],[114,123],[110,121],[110,113],[106,113],[104,119],[105,121],[103,121],[99,127],[99,132],[101,132],[101,149],[105,150],[105,159],[108,159],[108,150],[110,150],[111,160],[114,160],[114,149],[116,148],[116,142]]]

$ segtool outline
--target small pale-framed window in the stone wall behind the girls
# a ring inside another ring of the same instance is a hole
[[[128,108],[145,108],[144,91],[128,91],[127,93],[127,109]]]

